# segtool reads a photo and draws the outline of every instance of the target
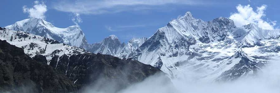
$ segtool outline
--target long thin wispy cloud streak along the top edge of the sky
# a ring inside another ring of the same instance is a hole
[[[197,5],[210,4],[201,0],[83,0],[61,1],[54,4],[54,9],[63,12],[76,12],[79,14],[103,14],[123,11],[147,10],[165,4]]]

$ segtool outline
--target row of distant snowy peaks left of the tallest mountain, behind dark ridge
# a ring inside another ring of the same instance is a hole
[[[88,44],[83,31],[79,26],[58,28],[41,18],[30,18],[17,21],[13,25],[6,26],[10,30],[24,31],[34,35],[57,40],[60,43],[86,49],[92,53],[109,54],[116,57],[130,57],[132,53],[146,38],[133,38],[127,44],[121,43],[116,35],[110,35],[99,43]]]

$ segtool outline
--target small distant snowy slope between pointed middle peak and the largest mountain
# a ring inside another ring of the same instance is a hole
[[[137,48],[139,48],[146,40],[147,40],[147,38],[145,38],[145,37],[143,37],[143,38],[132,38],[131,40],[128,41],[126,46],[123,47],[121,49],[121,51],[119,51],[119,53],[117,53],[114,56],[120,57],[120,58],[129,58],[134,53],[134,51]]]

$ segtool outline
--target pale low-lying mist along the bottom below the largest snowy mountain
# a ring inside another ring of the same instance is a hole
[[[241,77],[229,82],[194,81],[193,75],[168,82],[163,74],[156,74],[144,81],[116,90],[114,81],[100,81],[83,90],[83,93],[279,93],[280,63],[271,61],[254,77]]]

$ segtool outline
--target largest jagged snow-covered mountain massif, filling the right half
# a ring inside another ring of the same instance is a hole
[[[279,30],[262,30],[254,24],[236,28],[225,17],[204,22],[187,12],[157,30],[132,58],[169,77],[185,77],[192,71],[209,81],[234,80],[278,56],[279,36]]]

